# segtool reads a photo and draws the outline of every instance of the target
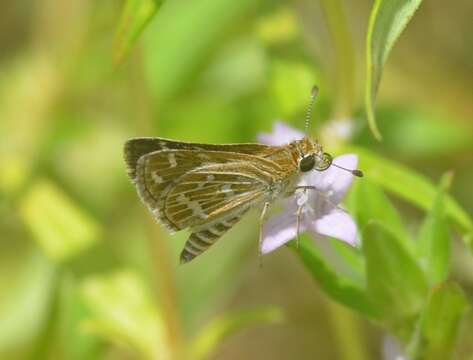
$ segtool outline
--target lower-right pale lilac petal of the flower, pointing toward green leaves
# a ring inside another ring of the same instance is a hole
[[[310,223],[309,230],[330,236],[356,246],[359,244],[358,231],[352,217],[345,211],[334,208],[327,215]]]

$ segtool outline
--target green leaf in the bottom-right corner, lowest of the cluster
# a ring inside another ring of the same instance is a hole
[[[451,359],[461,319],[468,307],[460,286],[446,283],[432,290],[409,352],[413,359]]]

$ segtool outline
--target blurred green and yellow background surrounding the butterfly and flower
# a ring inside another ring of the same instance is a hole
[[[256,213],[179,266],[187,234],[153,221],[122,146],[302,128],[317,83],[311,134],[328,151],[355,144],[434,182],[453,170],[471,214],[471,1],[426,1],[401,36],[378,96],[381,143],[363,109],[370,1],[167,1],[119,63],[122,1],[2,5],[0,358],[381,358],[384,333],[322,294],[291,251],[258,267]],[[396,206],[415,228],[422,213]],[[471,294],[460,244],[453,276]]]

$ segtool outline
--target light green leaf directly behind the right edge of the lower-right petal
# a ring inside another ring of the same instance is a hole
[[[413,250],[413,242],[405,230],[398,211],[379,186],[370,182],[368,177],[355,181],[347,204],[360,229],[370,221],[376,220],[402,240],[406,249]]]

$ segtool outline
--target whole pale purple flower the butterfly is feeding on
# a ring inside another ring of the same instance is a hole
[[[260,142],[283,145],[304,137],[304,134],[277,122],[271,134],[260,134]],[[333,162],[347,169],[356,169],[358,158],[347,154],[336,157]],[[297,208],[304,204],[300,232],[309,231],[315,237],[330,236],[352,246],[358,244],[358,232],[352,217],[338,205],[353,181],[348,171],[329,167],[325,171],[313,170],[301,176],[298,185],[315,186],[318,191],[298,192],[283,200],[284,212],[271,217],[263,226],[262,252],[267,254],[296,238]]]

